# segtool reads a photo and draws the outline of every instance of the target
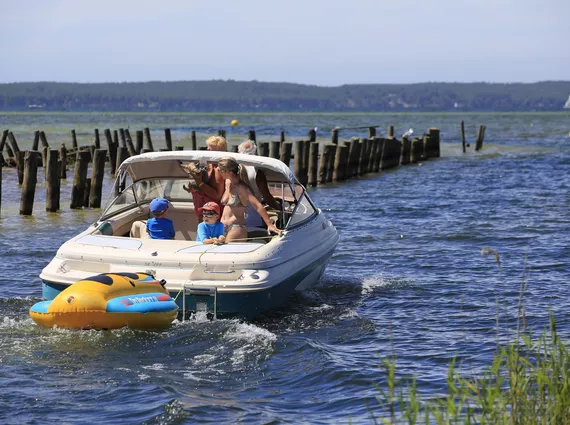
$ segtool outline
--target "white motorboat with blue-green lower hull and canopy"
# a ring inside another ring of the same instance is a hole
[[[216,164],[224,157],[265,173],[272,194],[282,200],[281,210],[268,210],[284,230],[281,235],[248,228],[251,237],[244,242],[195,241],[198,219],[183,188],[190,178],[184,166],[190,161]],[[151,217],[149,204],[156,197],[170,202],[175,238],[130,237],[133,223]],[[284,305],[294,290],[313,285],[338,240],[336,228],[279,160],[214,151],[151,152],[121,164],[101,218],[65,242],[40,278],[43,296],[50,300],[96,274],[148,273],[166,281],[182,317],[206,311],[214,317],[253,318]]]

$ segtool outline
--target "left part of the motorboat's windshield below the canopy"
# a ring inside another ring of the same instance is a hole
[[[112,197],[105,207],[101,220],[106,220],[120,212],[148,204],[154,198],[192,202],[192,196],[182,187],[185,184],[188,184],[187,178],[146,179],[134,182],[120,191],[118,195]],[[117,192],[119,192],[118,188],[113,188],[113,193]]]

